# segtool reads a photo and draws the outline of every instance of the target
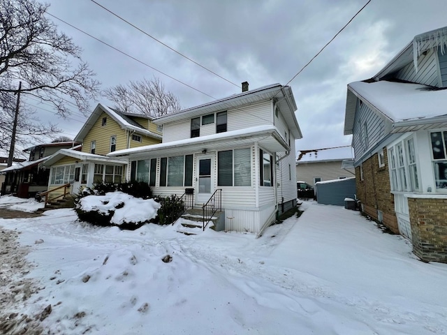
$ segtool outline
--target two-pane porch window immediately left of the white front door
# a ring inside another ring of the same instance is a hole
[[[163,157],[160,160],[160,186],[192,186],[193,155]]]

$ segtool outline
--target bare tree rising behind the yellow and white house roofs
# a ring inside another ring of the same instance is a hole
[[[113,101],[114,107],[123,112],[160,117],[180,110],[177,97],[166,91],[157,77],[152,80],[131,81],[127,85],[119,84],[105,89],[103,96]]]

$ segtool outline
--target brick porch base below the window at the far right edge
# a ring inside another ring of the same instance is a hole
[[[413,253],[447,263],[447,199],[409,198]]]

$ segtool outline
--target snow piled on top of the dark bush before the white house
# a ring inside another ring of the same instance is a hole
[[[78,208],[82,211],[98,211],[105,215],[114,211],[110,223],[115,225],[149,221],[156,217],[160,207],[161,204],[154,199],[134,198],[123,192],[87,195],[87,197],[81,198],[78,204]]]

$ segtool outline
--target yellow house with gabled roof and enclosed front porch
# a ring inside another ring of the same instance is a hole
[[[67,186],[70,193],[76,194],[101,181],[124,181],[128,161],[105,155],[158,144],[161,138],[160,126],[152,123],[149,115],[119,112],[98,103],[75,137],[75,141],[82,143],[82,149],[61,149],[43,163],[45,168],[50,168],[49,198],[64,193],[61,186],[66,184],[70,184]]]

